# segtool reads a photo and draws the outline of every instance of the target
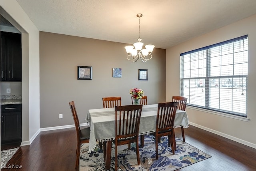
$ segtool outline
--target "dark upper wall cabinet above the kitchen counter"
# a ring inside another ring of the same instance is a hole
[[[1,81],[21,81],[21,34],[1,32]]]

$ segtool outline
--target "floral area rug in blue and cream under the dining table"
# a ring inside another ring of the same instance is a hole
[[[139,141],[140,142],[140,141]],[[158,143],[158,160],[156,160],[155,137],[145,135],[144,147],[140,148],[140,165],[137,165],[135,143],[131,150],[127,145],[120,145],[118,149],[118,170],[120,171],[174,171],[211,156],[196,147],[176,138],[175,155],[168,147],[168,137],[161,137]],[[115,168],[115,145],[112,143],[111,171]],[[88,144],[81,145],[80,171],[105,171],[105,162],[102,149],[96,147],[88,154]]]

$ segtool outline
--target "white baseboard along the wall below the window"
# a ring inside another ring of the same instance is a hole
[[[220,136],[222,136],[222,137],[231,139],[231,140],[233,140],[233,141],[236,141],[236,142],[238,142],[238,143],[241,143],[241,144],[244,144],[244,145],[247,145],[247,146],[249,146],[249,147],[252,147],[252,148],[256,149],[256,144],[250,143],[250,142],[248,142],[248,141],[244,141],[244,140],[242,140],[242,139],[239,139],[239,138],[230,136],[230,135],[228,135],[228,134],[225,134],[225,133],[216,131],[216,130],[214,130],[214,129],[210,129],[210,128],[208,128],[208,127],[204,127],[204,126],[202,126],[202,125],[198,125],[198,124],[196,124],[196,123],[189,122],[189,124],[190,124],[190,125],[193,125],[193,126],[195,126],[195,127],[198,127],[198,128],[200,128],[200,129],[204,129],[205,131],[208,131],[208,132],[211,132],[211,133],[220,135]]]

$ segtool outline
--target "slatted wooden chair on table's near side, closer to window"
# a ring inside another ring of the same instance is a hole
[[[158,141],[160,137],[168,135],[168,147],[172,146],[172,154],[175,154],[174,143],[174,119],[176,115],[178,102],[158,103],[156,117],[156,159],[158,159]]]

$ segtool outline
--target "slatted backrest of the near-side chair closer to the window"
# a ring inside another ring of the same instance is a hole
[[[156,131],[173,128],[178,102],[158,103]]]

